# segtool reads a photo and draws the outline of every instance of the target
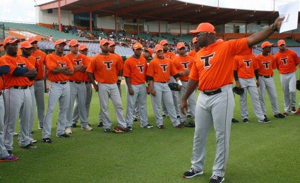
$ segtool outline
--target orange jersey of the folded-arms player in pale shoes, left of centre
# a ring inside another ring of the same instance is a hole
[[[72,54],[68,53],[65,55],[67,59],[69,59],[72,65],[83,64],[84,66],[89,65],[88,58],[85,55],[79,54],[77,58],[75,58]],[[86,74],[80,71],[74,72],[73,75],[69,76],[70,81],[84,81]]]

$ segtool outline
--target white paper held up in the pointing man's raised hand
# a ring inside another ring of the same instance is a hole
[[[278,6],[278,12],[280,17],[284,17],[279,33],[297,29],[298,0]]]

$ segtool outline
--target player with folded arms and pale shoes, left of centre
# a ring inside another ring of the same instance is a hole
[[[67,111],[67,123],[65,125],[64,133],[69,135],[72,134],[72,117],[73,117],[73,107],[75,99],[77,98],[79,106],[79,118],[81,123],[81,129],[85,131],[91,131],[88,124],[88,119],[86,115],[86,86],[85,86],[85,70],[88,67],[89,60],[85,55],[79,54],[79,43],[77,40],[72,39],[69,42],[69,47],[71,52],[66,54],[65,57],[68,58],[73,64],[74,74],[69,76],[70,84],[70,104]]]

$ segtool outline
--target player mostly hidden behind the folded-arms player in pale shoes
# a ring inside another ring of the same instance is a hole
[[[88,54],[88,47],[84,44],[80,44],[79,45],[79,53],[86,56]],[[90,63],[91,60],[88,57],[87,57],[87,59],[88,59],[88,63]],[[90,105],[91,105],[91,101],[92,101],[92,84],[86,73],[85,73],[84,81],[85,81],[85,87],[86,87],[86,102],[85,102],[86,119],[89,120]],[[76,100],[75,104],[74,104],[72,127],[76,127],[76,123],[77,123],[78,119],[79,119],[79,108],[78,108],[78,102]]]

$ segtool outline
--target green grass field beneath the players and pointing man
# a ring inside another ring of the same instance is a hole
[[[278,73],[274,79],[283,112]],[[125,97],[123,86],[123,99]],[[300,92],[297,91],[297,105],[299,99]],[[235,100],[234,116],[241,121],[238,96]],[[149,96],[147,104],[149,122],[155,125]],[[271,123],[257,122],[248,97],[250,122],[232,124],[226,183],[299,182],[300,116],[275,119],[268,99],[267,105]],[[110,110],[111,119],[116,124],[112,104]],[[215,156],[213,128],[207,140],[204,174],[183,179],[182,173],[191,165],[193,128],[176,129],[167,118],[164,120],[165,130],[156,127],[143,129],[140,122],[136,122],[133,133],[104,133],[96,126],[98,112],[99,100],[94,92],[89,119],[93,131],[86,132],[77,127],[73,128],[73,135],[68,139],[55,137],[56,110],[51,144],[42,142],[37,122],[33,130],[33,137],[38,140],[37,149],[20,148],[15,137],[14,154],[20,159],[0,163],[0,182],[208,182]]]

